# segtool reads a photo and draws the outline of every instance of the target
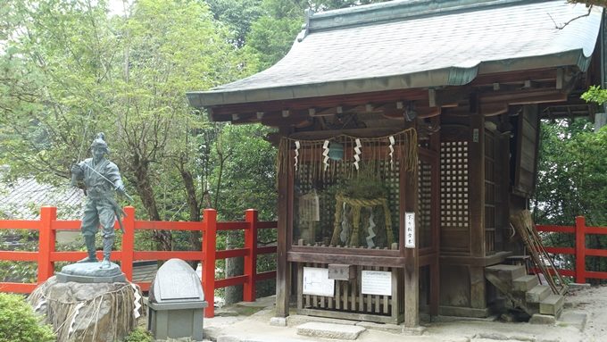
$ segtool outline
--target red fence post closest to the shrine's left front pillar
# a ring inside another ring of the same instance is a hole
[[[245,247],[249,253],[245,255],[245,275],[247,280],[243,285],[243,299],[245,302],[255,301],[255,276],[257,275],[257,211],[245,211]]]

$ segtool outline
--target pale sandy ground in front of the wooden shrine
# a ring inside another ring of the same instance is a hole
[[[254,313],[235,312],[233,317],[216,317],[205,320],[206,338],[223,341],[254,342],[307,342],[326,339],[307,338],[296,335],[298,323],[289,317],[288,327],[270,326],[274,316],[273,298],[260,303],[262,311]],[[586,313],[586,327],[580,331],[581,321],[566,321],[563,316]],[[527,322],[503,321],[444,321],[426,326],[423,335],[403,335],[400,327],[392,330],[368,329],[357,338],[361,342],[607,342],[607,286],[571,289],[565,298],[565,309],[561,320],[555,325],[530,324]],[[300,319],[312,320],[301,316]],[[318,320],[318,319],[316,319]],[[346,321],[339,322],[341,324]],[[393,331],[394,330],[394,331]],[[224,336],[225,338],[220,338]]]

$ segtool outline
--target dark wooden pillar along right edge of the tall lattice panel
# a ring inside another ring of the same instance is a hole
[[[473,102],[473,99],[470,99]],[[476,101],[474,101],[476,103]],[[469,208],[470,256],[485,257],[485,117],[478,105],[470,105]],[[486,281],[483,266],[470,266],[470,306],[486,308]]]

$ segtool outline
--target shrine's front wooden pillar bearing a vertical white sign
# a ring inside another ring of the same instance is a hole
[[[412,125],[409,127],[413,127]],[[413,142],[417,144],[417,141]],[[403,164],[403,163],[402,163]],[[418,169],[401,172],[401,222],[405,213],[415,213],[415,247],[404,248],[404,327],[417,328],[420,326],[420,234],[418,212]],[[401,229],[403,231],[403,229]],[[401,240],[406,240],[406,229]]]

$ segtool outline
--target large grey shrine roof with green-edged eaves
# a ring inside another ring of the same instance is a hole
[[[270,69],[187,96],[201,107],[458,86],[483,73],[545,67],[585,71],[602,11],[595,6],[561,29],[588,9],[564,0],[408,0],[314,13]]]

